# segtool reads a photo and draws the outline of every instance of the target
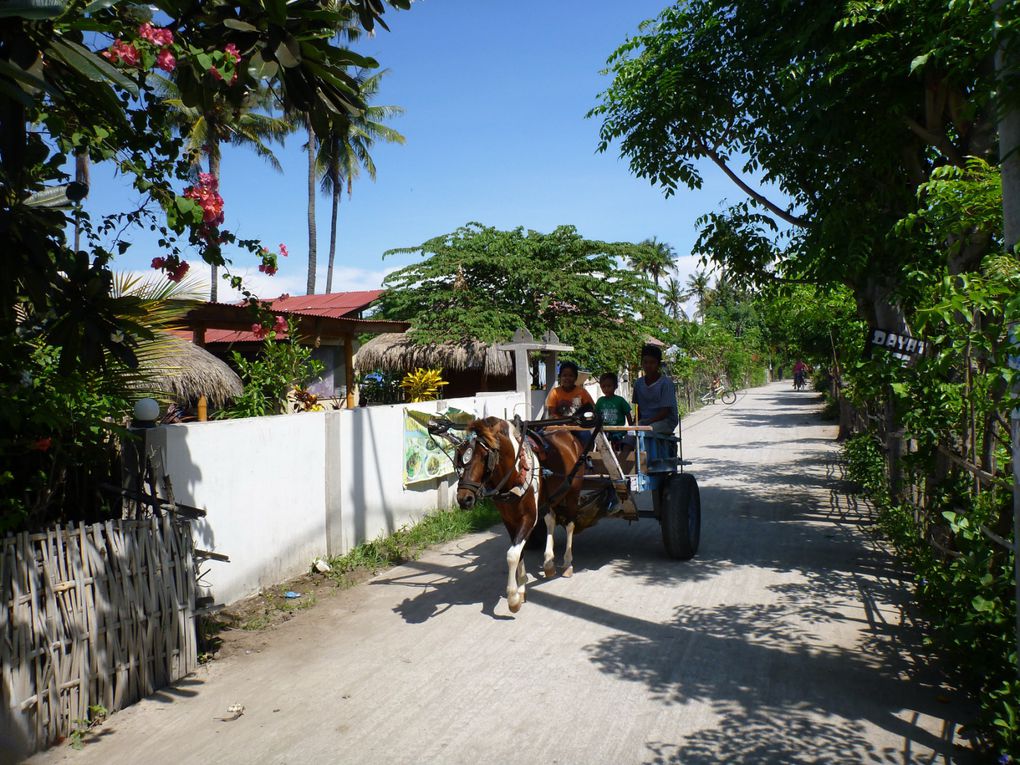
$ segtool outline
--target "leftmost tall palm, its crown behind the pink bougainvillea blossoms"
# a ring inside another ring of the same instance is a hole
[[[187,106],[181,100],[173,83],[165,78],[161,80],[162,90],[167,95],[165,101],[176,109],[177,125],[181,135],[186,139],[185,148],[195,158],[196,167],[199,158],[204,154],[208,172],[218,184],[221,146],[228,143],[254,149],[255,153],[266,160],[274,170],[283,172],[279,160],[266,142],[283,143],[284,138],[291,133],[292,125],[287,119],[256,111],[268,105],[269,94],[255,94],[240,110],[217,97],[213,97],[212,101],[200,108]],[[213,302],[217,295],[217,266],[212,265],[209,300]]]

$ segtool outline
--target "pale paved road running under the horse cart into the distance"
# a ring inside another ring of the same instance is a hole
[[[511,617],[505,534],[473,534],[31,762],[958,762],[909,581],[818,409],[773,384],[684,420],[693,561],[665,557],[655,521],[604,521],[575,540],[573,578],[532,581]]]

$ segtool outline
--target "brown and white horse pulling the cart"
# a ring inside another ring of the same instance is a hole
[[[468,424],[466,438],[457,448],[455,459],[460,470],[457,504],[466,510],[480,497],[491,498],[510,534],[507,604],[514,613],[525,600],[527,575],[522,553],[524,543],[539,522],[541,507],[546,508],[548,531],[543,570],[547,577],[556,574],[553,531],[560,520],[567,529],[563,575],[573,575],[573,520],[583,465],[575,471],[569,486],[563,484],[581,451],[577,439],[567,430],[546,430],[541,443],[532,444],[529,440],[522,442],[510,423],[498,417],[476,419]],[[543,467],[548,477],[543,476]]]

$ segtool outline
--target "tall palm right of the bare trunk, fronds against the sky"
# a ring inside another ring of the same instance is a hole
[[[371,76],[359,73],[361,97],[366,104],[378,93],[379,81],[389,71],[384,69]],[[337,253],[337,217],[344,187],[347,187],[347,196],[350,198],[354,181],[361,174],[362,169],[368,173],[368,177],[375,180],[375,162],[368,151],[376,140],[393,144],[404,143],[405,139],[400,133],[382,124],[381,121],[403,113],[404,110],[399,106],[368,105],[361,114],[352,117],[346,133],[343,130],[335,131],[319,146],[318,166],[322,173],[322,191],[328,192],[333,197],[329,258],[325,272],[327,293],[333,290],[333,263]]]

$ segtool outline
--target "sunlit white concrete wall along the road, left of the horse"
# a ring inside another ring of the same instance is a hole
[[[254,595],[454,502],[450,478],[403,486],[404,409],[456,407],[477,416],[526,417],[524,396],[361,407],[275,417],[164,425],[174,496],[206,510],[195,546],[222,553],[203,583],[220,603]],[[450,476],[453,478],[454,476]]]

